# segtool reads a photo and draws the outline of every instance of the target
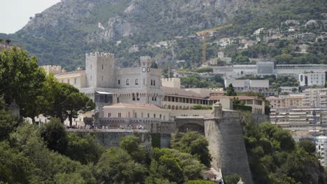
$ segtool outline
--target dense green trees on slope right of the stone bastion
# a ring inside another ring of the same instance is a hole
[[[326,182],[312,142],[296,144],[289,130],[250,121],[245,126],[245,146],[255,183]]]

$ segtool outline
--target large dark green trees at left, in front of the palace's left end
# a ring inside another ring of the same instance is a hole
[[[16,102],[20,115],[34,117],[39,114],[66,118],[70,123],[79,111],[94,109],[94,102],[70,84],[57,82],[53,75],[45,77],[35,56],[14,47],[0,52],[0,95],[7,105]]]

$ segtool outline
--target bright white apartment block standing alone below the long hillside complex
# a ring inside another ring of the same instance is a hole
[[[300,86],[325,86],[325,72],[305,72],[298,75]]]

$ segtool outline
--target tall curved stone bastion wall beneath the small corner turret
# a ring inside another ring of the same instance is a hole
[[[212,167],[224,176],[240,174],[252,184],[251,171],[242,136],[239,112],[223,112],[222,117],[205,119],[205,137],[209,141]]]

